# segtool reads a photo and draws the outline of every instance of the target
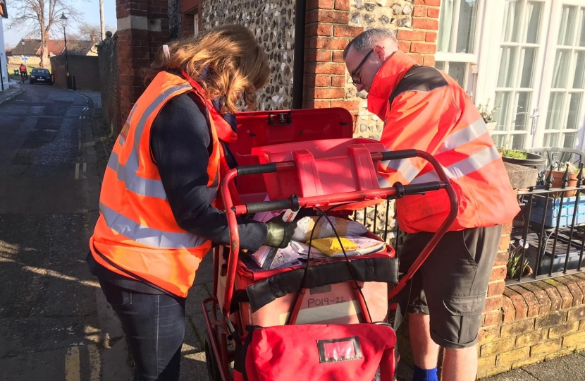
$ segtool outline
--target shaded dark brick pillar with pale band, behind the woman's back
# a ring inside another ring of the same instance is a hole
[[[163,0],[116,0],[118,18],[118,131],[144,91],[141,70],[148,68],[168,41],[168,2]]]

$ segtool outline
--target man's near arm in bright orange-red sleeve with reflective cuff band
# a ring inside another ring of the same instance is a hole
[[[389,151],[421,150],[434,155],[459,115],[449,86],[402,92],[391,105],[381,143]],[[381,162],[380,185],[410,183],[426,164],[426,160],[419,158]]]

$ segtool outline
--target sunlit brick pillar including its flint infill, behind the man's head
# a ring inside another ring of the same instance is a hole
[[[343,63],[343,49],[365,28],[398,31],[400,49],[434,65],[440,0],[309,0],[305,28],[304,108],[344,107],[355,115],[355,135],[379,139],[382,123],[367,111]]]

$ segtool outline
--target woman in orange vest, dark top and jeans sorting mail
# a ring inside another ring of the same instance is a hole
[[[185,298],[212,243],[227,245],[216,207],[235,166],[238,101],[254,105],[270,69],[252,33],[226,25],[174,42],[147,75],[109,159],[87,257],[122,322],[135,381],[178,380]],[[284,247],[294,224],[240,220],[240,246]]]

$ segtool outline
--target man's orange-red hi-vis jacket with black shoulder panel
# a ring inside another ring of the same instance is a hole
[[[459,198],[451,231],[505,224],[519,212],[486,123],[448,75],[395,52],[374,78],[368,109],[384,121],[381,143],[387,150],[426,151],[441,163]],[[431,164],[419,158],[382,162],[378,179],[382,187],[438,181]],[[396,205],[407,233],[437,231],[449,211],[445,191],[411,195]]]

